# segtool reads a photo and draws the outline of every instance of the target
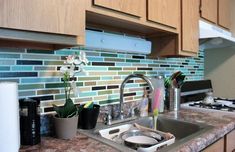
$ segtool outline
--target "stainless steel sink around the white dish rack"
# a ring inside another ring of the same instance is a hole
[[[85,132],[88,136],[93,137],[101,142],[104,142],[110,146],[115,147],[116,149],[120,151],[131,151],[131,149],[127,148],[125,145],[120,145],[120,143],[115,143],[111,141],[111,139],[106,139],[106,138],[101,138],[99,131],[107,129],[107,128],[119,128],[123,126],[124,124],[133,124],[137,123],[139,125],[148,127],[148,128],[153,128],[153,118],[152,117],[144,117],[144,118],[138,118],[134,121],[129,121],[121,124],[116,124],[113,126],[105,126],[105,125],[98,125],[96,127],[96,130],[94,132]],[[172,133],[175,137],[175,143],[162,148],[160,151],[163,152],[169,152],[169,151],[175,151],[178,146],[181,144],[205,133],[206,131],[212,129],[212,126],[202,124],[202,123],[190,123],[190,122],[185,122],[181,120],[176,120],[176,119],[171,119],[171,118],[166,118],[164,116],[159,116],[157,120],[157,129],[163,132],[170,132]]]

